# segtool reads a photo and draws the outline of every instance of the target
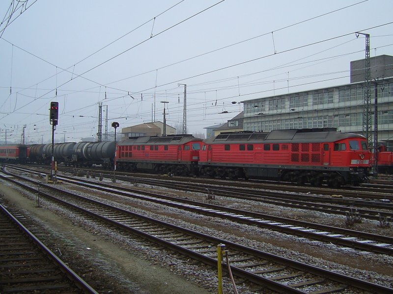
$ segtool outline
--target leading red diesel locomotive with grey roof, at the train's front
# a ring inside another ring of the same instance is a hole
[[[265,178],[338,187],[367,180],[370,155],[364,136],[335,128],[222,133],[204,140],[199,173]]]

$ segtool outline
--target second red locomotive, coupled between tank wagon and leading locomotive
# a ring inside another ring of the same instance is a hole
[[[116,169],[195,175],[201,141],[192,135],[146,136],[120,141],[116,149]]]

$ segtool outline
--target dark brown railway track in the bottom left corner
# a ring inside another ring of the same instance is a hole
[[[0,293],[98,294],[0,204]]]

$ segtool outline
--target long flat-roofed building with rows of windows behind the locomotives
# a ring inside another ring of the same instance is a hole
[[[378,142],[393,147],[393,56],[372,57],[370,67],[372,133],[377,94]],[[364,80],[364,60],[357,60],[351,62],[352,82],[349,84],[242,101],[243,129],[336,127],[343,132],[362,134]]]

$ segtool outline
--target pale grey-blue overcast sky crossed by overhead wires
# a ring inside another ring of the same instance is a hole
[[[1,19],[11,2],[0,2]],[[156,120],[166,100],[168,124],[181,126],[179,83],[188,133],[205,133],[239,101],[348,83],[349,62],[365,57],[356,31],[370,34],[371,56],[393,54],[392,0],[219,2],[28,0],[0,40],[0,143],[5,129],[20,142],[24,124],[27,142],[49,142],[51,101],[61,140],[96,136],[98,102],[110,130],[150,122],[154,95]]]

